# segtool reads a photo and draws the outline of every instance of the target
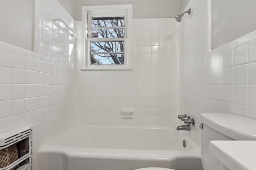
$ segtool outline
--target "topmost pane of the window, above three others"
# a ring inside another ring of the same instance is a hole
[[[124,16],[92,17],[92,27],[124,27]]]

